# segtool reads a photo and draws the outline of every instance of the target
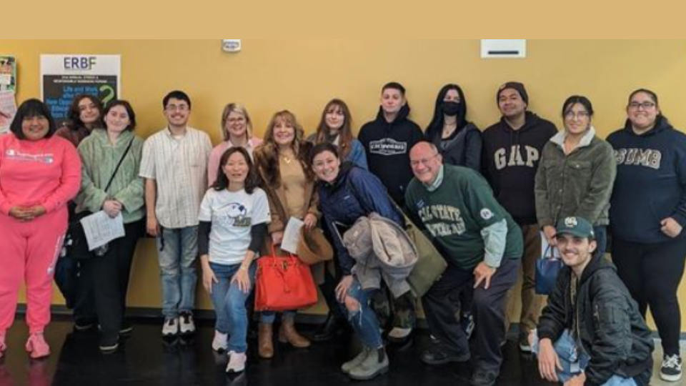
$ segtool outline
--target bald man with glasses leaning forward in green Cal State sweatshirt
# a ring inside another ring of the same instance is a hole
[[[467,362],[472,356],[448,295],[474,288],[472,312],[474,373],[472,385],[494,385],[502,363],[504,305],[517,281],[522,232],[498,204],[486,180],[465,167],[443,164],[428,142],[409,154],[414,179],[405,203],[410,217],[427,230],[448,267],[422,298],[429,329],[437,343],[422,354],[428,365]]]

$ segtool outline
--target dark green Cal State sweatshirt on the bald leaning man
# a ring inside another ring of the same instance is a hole
[[[442,181],[427,188],[416,178],[407,187],[405,203],[412,219],[427,229],[445,259],[460,269],[471,270],[489,255],[491,245],[484,239],[489,229],[507,225],[501,256],[491,256],[489,266],[500,259],[520,259],[524,250],[522,231],[493,197],[480,174],[466,167],[444,165]],[[502,240],[492,239],[492,244]]]

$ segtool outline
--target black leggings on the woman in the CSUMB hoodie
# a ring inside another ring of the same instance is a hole
[[[684,275],[686,237],[657,244],[615,237],[612,261],[644,318],[650,306],[665,355],[679,354],[681,312],[677,290]]]

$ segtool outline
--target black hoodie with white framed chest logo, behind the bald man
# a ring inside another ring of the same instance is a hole
[[[422,129],[408,115],[409,106],[405,104],[389,123],[379,108],[377,119],[364,124],[357,136],[367,153],[369,172],[381,179],[400,207],[404,207],[405,188],[414,176],[409,166],[409,150],[424,139]]]

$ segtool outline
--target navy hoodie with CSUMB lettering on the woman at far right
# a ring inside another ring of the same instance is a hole
[[[610,134],[617,179],[612,192],[612,234],[648,244],[670,240],[660,230],[667,217],[686,227],[686,134],[660,118],[649,132],[635,134],[631,123]],[[682,232],[680,237],[686,237]]]

